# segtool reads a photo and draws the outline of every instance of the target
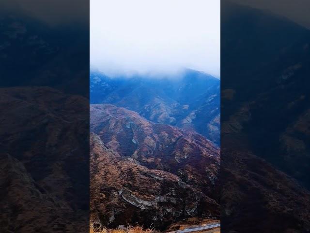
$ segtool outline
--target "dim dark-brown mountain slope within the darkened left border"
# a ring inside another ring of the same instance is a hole
[[[0,109],[1,232],[89,231],[88,100],[0,88]]]

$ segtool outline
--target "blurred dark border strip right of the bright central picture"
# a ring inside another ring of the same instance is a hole
[[[309,1],[221,1],[221,232],[310,231]]]

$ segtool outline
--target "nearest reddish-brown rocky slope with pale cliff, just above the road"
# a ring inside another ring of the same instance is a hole
[[[218,216],[219,205],[179,177],[107,149],[91,134],[91,222],[164,229],[176,219]]]

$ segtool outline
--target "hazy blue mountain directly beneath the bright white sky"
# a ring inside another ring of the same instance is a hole
[[[220,81],[195,70],[177,77],[90,75],[90,102],[110,103],[156,122],[201,133],[220,142]]]

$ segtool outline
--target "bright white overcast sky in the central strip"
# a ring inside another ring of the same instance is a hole
[[[220,76],[219,0],[90,0],[90,66]]]

